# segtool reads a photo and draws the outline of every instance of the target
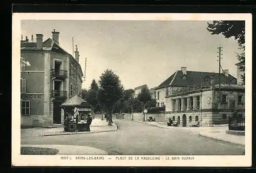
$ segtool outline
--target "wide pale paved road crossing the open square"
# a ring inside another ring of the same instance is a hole
[[[91,146],[109,155],[242,155],[244,147],[209,140],[182,128],[114,120],[114,132],[22,138],[21,144]]]

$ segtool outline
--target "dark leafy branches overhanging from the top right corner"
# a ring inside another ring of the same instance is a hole
[[[214,34],[222,34],[225,38],[234,37],[238,41],[239,49],[242,53],[237,53],[237,58],[241,62],[245,62],[245,21],[243,20],[214,20],[212,24],[207,23],[207,30]],[[245,71],[245,66],[240,66],[240,71]],[[243,84],[245,83],[245,75],[242,75]]]

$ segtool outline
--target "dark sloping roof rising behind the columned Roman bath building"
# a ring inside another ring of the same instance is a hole
[[[156,89],[167,87],[167,86],[191,86],[191,85],[198,85],[201,83],[208,83],[210,84],[210,80],[206,80],[206,77],[211,78],[214,76],[215,83],[219,84],[219,73],[212,73],[212,72],[196,72],[196,71],[187,71],[186,78],[183,79],[183,73],[181,70],[176,71],[170,77],[168,77],[165,81],[163,81]],[[233,84],[233,79],[237,81],[237,78],[233,77],[232,75],[228,75],[226,77],[223,73],[221,73],[221,83],[226,84]]]

